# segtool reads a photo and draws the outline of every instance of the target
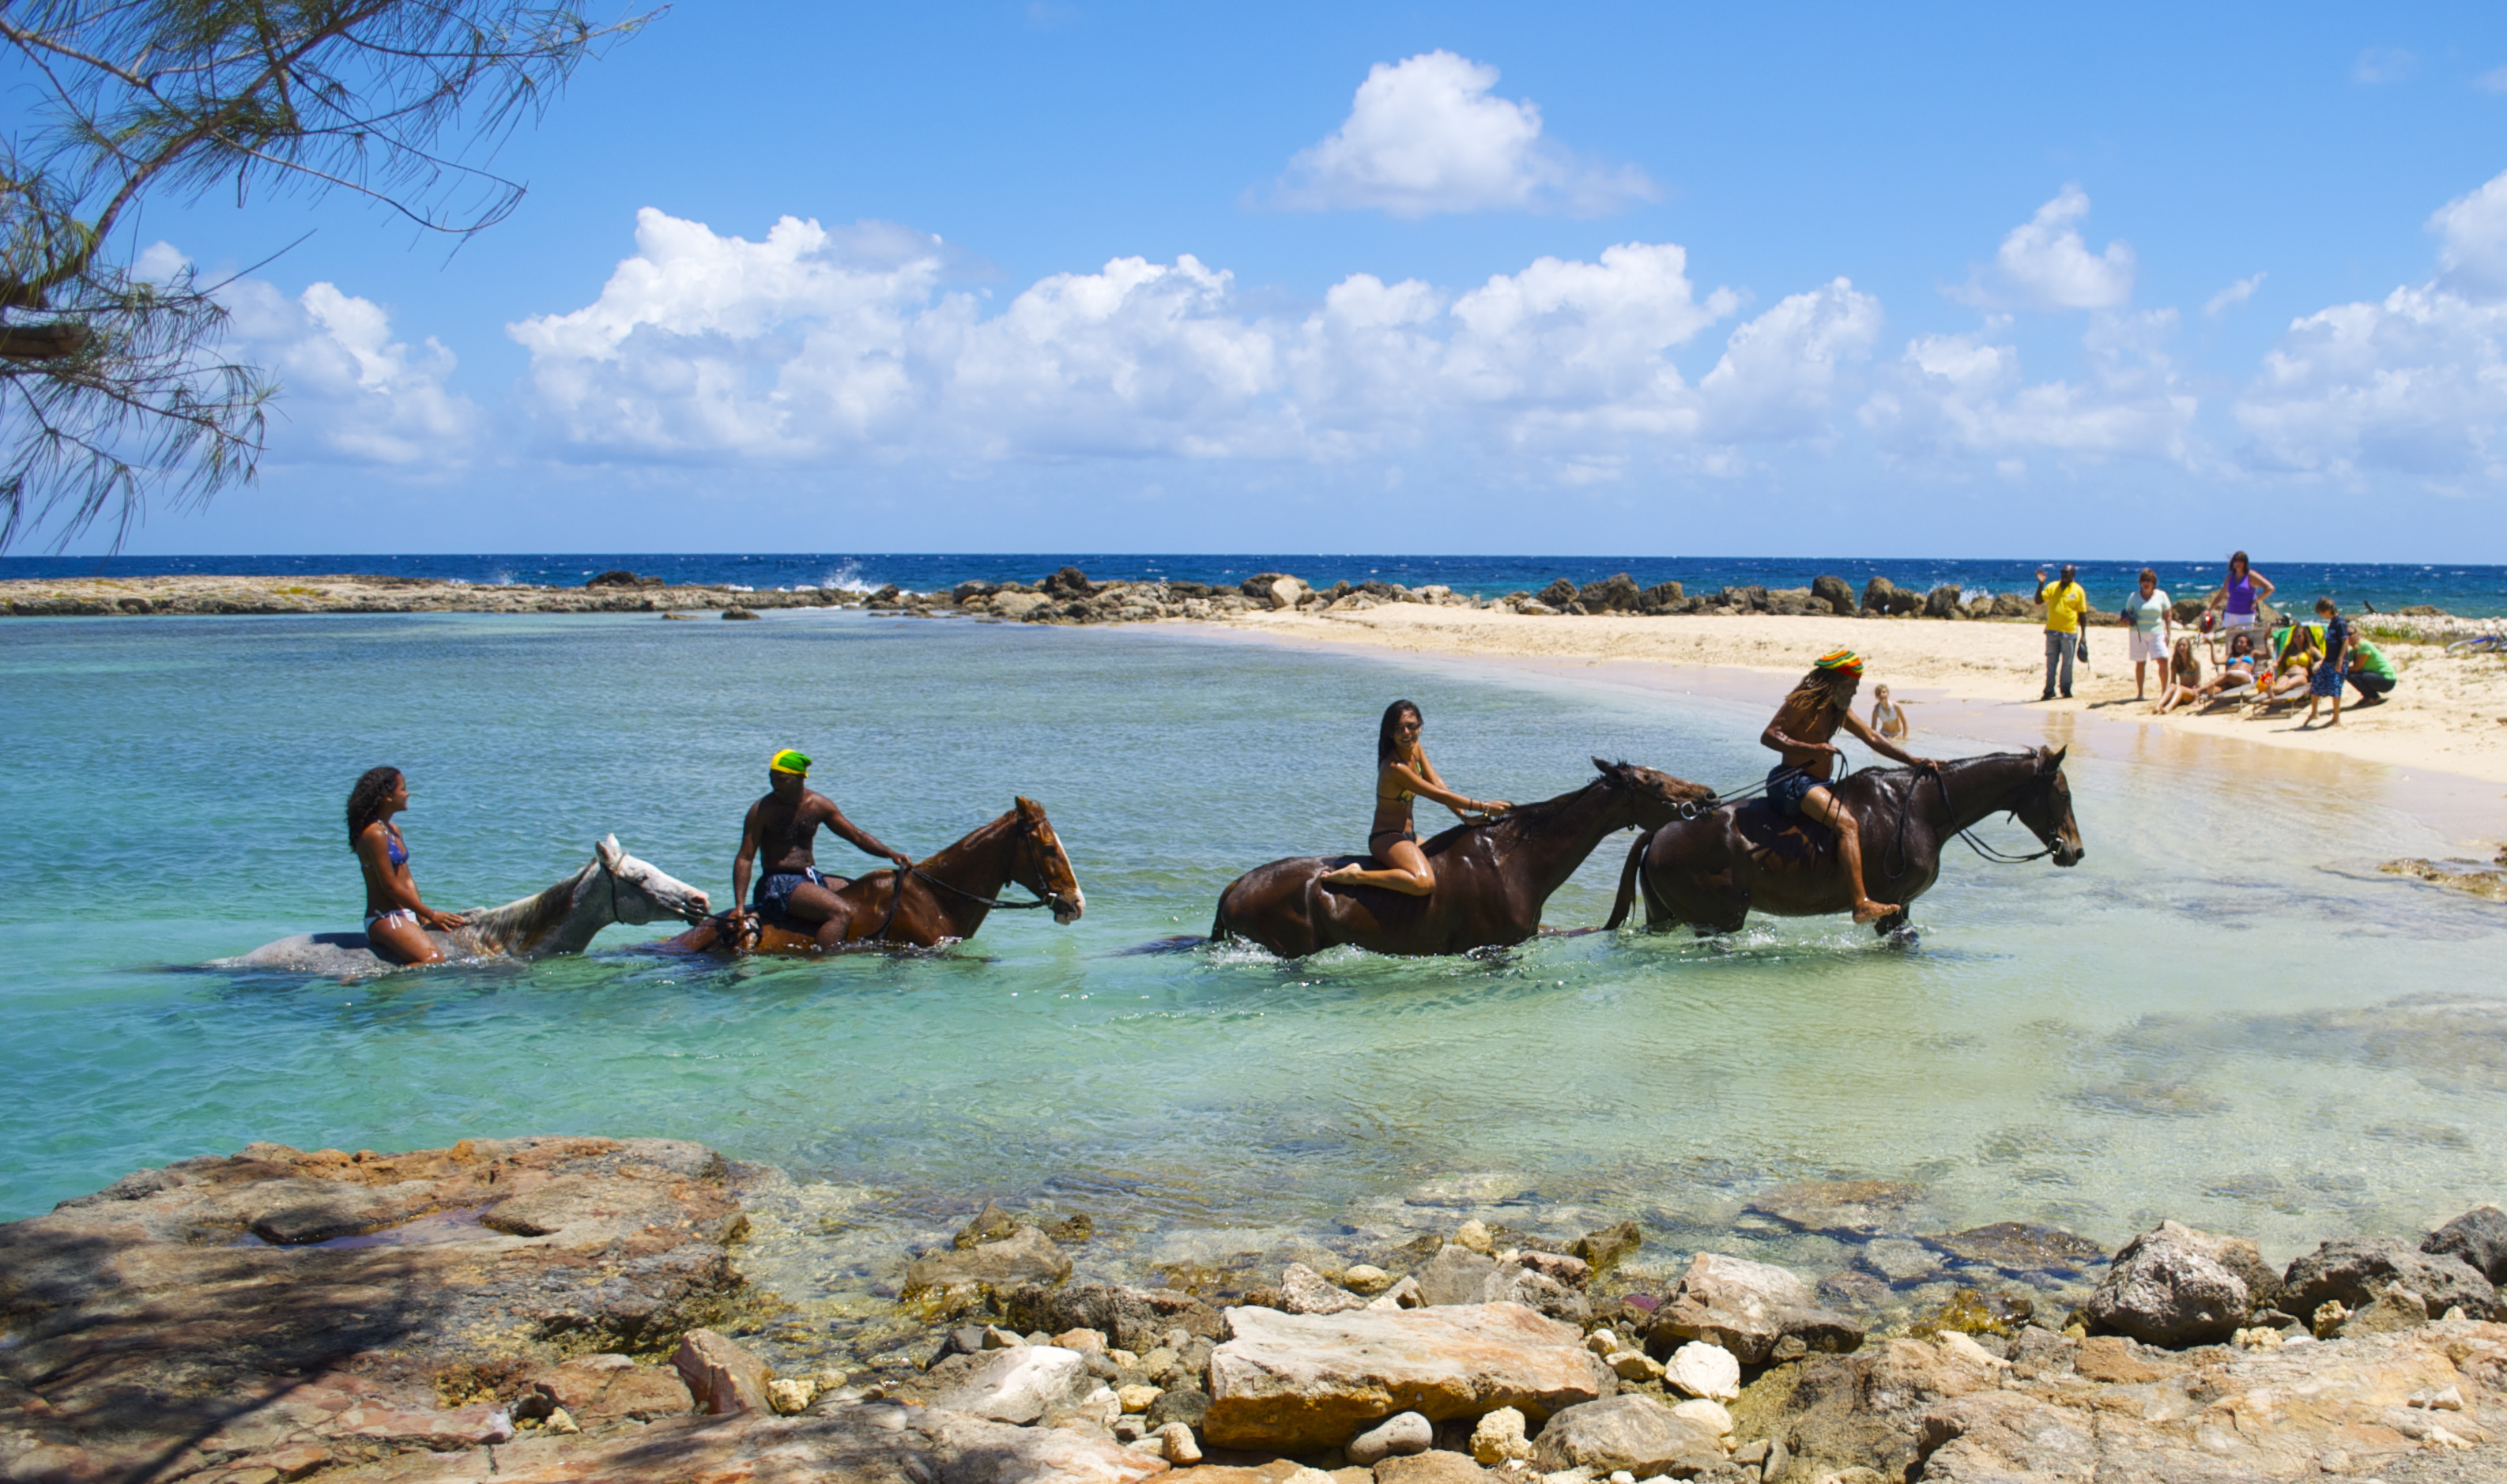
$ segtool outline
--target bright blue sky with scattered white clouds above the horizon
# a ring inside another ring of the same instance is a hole
[[[2497,5],[684,3],[494,163],[148,208],[283,401],[125,549],[2507,562]]]

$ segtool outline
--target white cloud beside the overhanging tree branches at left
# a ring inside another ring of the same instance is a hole
[[[446,386],[454,353],[434,338],[391,338],[384,306],[333,283],[288,298],[258,278],[226,286],[221,301],[233,331],[228,356],[278,381],[273,459],[459,464],[469,451],[479,406]]]

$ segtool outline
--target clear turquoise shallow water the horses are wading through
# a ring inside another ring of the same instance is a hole
[[[2377,877],[2442,842],[2279,775],[2083,760],[2088,862],[1960,852],[1913,953],[1760,922],[1279,965],[1128,950],[1201,933],[1248,865],[1354,842],[1394,694],[1459,787],[1514,800],[1589,755],[1745,782],[1762,717],[1178,627],[827,612],[25,622],[0,694],[0,1218],[256,1138],[499,1133],[782,1166],[765,1226],[830,1291],[978,1196],[1091,1211],[1111,1266],[1469,1211],[1752,1241],[1752,1193],[1823,1176],[1918,1186],[1910,1231],[2111,1246],[2174,1216],[2284,1258],[2502,1196],[2499,910]],[[1043,800],[1086,920],[995,917],[933,958],[692,968],[612,927],[584,958],[356,985],[168,968],[351,927],[338,812],[374,762],[411,777],[436,905],[536,890],[607,830],[720,897],[780,745],[918,852]],[[1617,860],[1552,925],[1599,922]]]

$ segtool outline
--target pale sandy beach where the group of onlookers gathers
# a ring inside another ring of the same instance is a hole
[[[2038,702],[2046,649],[2036,624],[1777,614],[1524,617],[1384,604],[1351,614],[1248,614],[1228,627],[1284,642],[1409,654],[1662,667],[1700,689],[1762,694],[1770,707],[1810,659],[1850,647],[1865,659],[1863,704],[1870,687],[1888,684],[1898,699],[1918,702],[1918,729],[1938,719],[1925,714],[1925,704],[1968,702],[1971,709],[2011,707],[2018,717],[2093,717],[2507,785],[2507,657],[2447,654],[2442,644],[2384,644],[2402,672],[2394,694],[2374,707],[2344,704],[2339,727],[2306,729],[2304,699],[2269,714],[2249,707],[2214,707],[2201,717],[2151,714],[2148,704],[2133,702],[2121,629],[2091,629],[2093,667],[2078,677],[2076,699]]]

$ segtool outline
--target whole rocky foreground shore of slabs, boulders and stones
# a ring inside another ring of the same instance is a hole
[[[898,1253],[877,1354],[742,1273],[775,1173],[677,1141],[256,1143],[0,1226],[0,1479],[1178,1484],[2477,1479],[2507,1466],[2507,1216],[2274,1271],[2176,1223],[1988,1226],[1978,1283],[1848,1288],[1635,1223],[1464,1221],[1236,1291],[1088,1271],[985,1206]],[[1855,1221],[1880,1183],[1798,1186]],[[1878,1243],[1873,1243],[1878,1246]],[[1900,1246],[1925,1246],[1903,1241]],[[1078,1253],[1078,1258],[1073,1258]],[[1672,1278],[1652,1276],[1675,1271]],[[1630,1278],[1630,1273],[1640,1273]],[[2091,1281],[2093,1276],[2093,1281]],[[2041,1293],[2043,1296],[2043,1293]]]

